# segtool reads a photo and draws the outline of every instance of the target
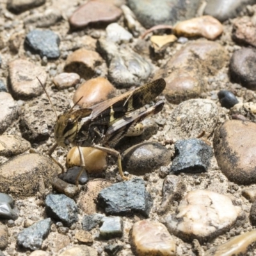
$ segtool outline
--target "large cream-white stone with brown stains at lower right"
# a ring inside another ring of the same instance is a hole
[[[207,190],[190,191],[180,202],[177,214],[169,214],[169,232],[185,241],[209,241],[228,230],[241,214],[228,196]],[[214,225],[212,225],[214,223]]]

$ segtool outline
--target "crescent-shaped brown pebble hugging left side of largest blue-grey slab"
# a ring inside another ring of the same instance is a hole
[[[99,192],[111,186],[112,183],[107,180],[90,180],[86,186],[86,192],[82,191],[78,198],[78,205],[84,214],[93,214],[96,212],[96,202]]]

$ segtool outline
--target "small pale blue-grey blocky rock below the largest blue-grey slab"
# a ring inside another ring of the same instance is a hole
[[[123,221],[120,217],[104,217],[101,220],[100,237],[103,239],[111,239],[113,237],[122,237]]]

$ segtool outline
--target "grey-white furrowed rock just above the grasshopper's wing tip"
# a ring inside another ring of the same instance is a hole
[[[97,42],[99,52],[106,58],[109,80],[119,87],[139,86],[147,81],[152,66],[128,47],[118,47],[111,41],[100,39]]]

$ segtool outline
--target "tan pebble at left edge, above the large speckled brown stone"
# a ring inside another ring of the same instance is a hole
[[[24,153],[30,143],[15,135],[0,136],[0,156],[10,157]]]

